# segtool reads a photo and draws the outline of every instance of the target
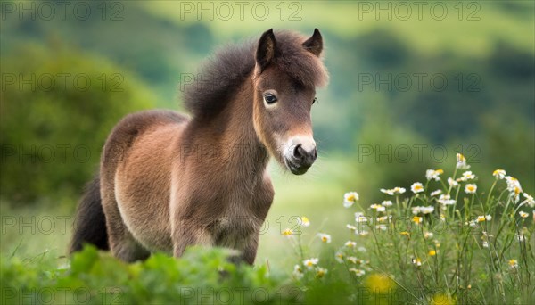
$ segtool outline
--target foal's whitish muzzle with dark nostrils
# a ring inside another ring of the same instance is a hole
[[[316,142],[310,137],[293,137],[284,152],[286,167],[294,175],[302,175],[309,170],[317,158]]]

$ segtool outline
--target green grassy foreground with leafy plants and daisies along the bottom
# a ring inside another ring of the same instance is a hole
[[[46,295],[55,298],[52,303],[99,304],[534,300],[535,203],[514,178],[496,177],[483,189],[477,172],[471,176],[453,164],[437,172],[438,180],[423,173],[421,192],[384,194],[391,205],[368,207],[361,197],[347,200],[346,208],[343,194],[351,189],[342,185],[348,173],[342,159],[333,160],[320,161],[317,173],[305,179],[272,169],[278,194],[254,267],[229,263],[232,253],[219,249],[192,248],[178,260],[154,254],[130,265],[92,247],[70,261],[50,251],[11,256],[3,250],[2,302],[51,303]],[[467,185],[478,189],[471,193]],[[441,194],[431,194],[436,190]],[[452,204],[440,199],[446,194]],[[415,212],[416,207],[432,209]],[[298,219],[303,215],[308,226]],[[328,235],[325,241],[318,233]],[[44,239],[32,242],[52,246]]]

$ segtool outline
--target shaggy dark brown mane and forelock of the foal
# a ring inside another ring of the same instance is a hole
[[[307,37],[291,31],[276,31],[277,69],[306,87],[324,86],[328,80],[323,62],[302,46]],[[211,118],[222,111],[255,67],[258,39],[219,49],[192,84],[185,87],[185,108],[195,118]]]

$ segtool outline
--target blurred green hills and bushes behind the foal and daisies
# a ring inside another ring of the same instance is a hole
[[[223,45],[266,29],[321,30],[328,87],[319,160],[270,166],[276,198],[257,262],[284,265],[295,216],[324,231],[379,188],[424,182],[463,152],[488,188],[506,169],[535,189],[535,4],[491,2],[1,1],[2,256],[65,253],[83,185],[118,120],[182,110],[180,85]],[[333,241],[342,243],[344,241]]]

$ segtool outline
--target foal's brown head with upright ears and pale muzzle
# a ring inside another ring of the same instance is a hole
[[[327,71],[319,56],[323,39],[292,32],[262,34],[254,70],[254,129],[277,161],[302,175],[317,158],[310,110]]]

